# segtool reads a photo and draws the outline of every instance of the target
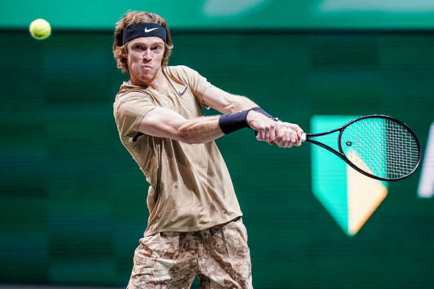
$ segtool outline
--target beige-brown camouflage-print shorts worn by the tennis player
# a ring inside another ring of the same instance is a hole
[[[247,231],[238,218],[199,232],[158,233],[140,239],[128,289],[252,288]]]

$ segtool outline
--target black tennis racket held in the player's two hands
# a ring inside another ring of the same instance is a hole
[[[339,151],[312,139],[334,132],[339,132]],[[335,130],[303,134],[301,141],[319,145],[361,174],[381,181],[405,179],[421,163],[416,134],[405,123],[387,115],[362,116]]]

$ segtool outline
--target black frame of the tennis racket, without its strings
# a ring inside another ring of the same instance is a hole
[[[345,130],[345,128],[347,128],[347,126],[351,125],[352,123],[355,123],[355,122],[357,122],[359,120],[362,120],[362,119],[365,119],[365,118],[386,118],[386,119],[392,120],[392,121],[394,121],[396,123],[399,123],[404,128],[406,128],[406,130],[408,130],[408,132],[411,133],[411,135],[414,137],[414,140],[416,140],[416,144],[418,145],[418,162],[417,162],[416,166],[414,166],[413,170],[410,173],[406,174],[405,176],[401,176],[399,178],[396,178],[396,179],[382,178],[380,176],[375,176],[373,174],[369,174],[366,171],[363,171],[362,169],[359,169],[357,166],[355,166],[355,164],[352,164],[352,162],[349,159],[347,159],[347,157],[343,153],[342,145],[341,145],[341,142],[340,142],[340,140],[342,138],[343,131]],[[333,132],[338,132],[338,131],[339,131],[339,135],[338,135],[338,149],[339,149],[339,152],[336,151],[335,149],[333,149],[332,147],[329,147],[328,145],[323,144],[322,142],[318,142],[316,140],[311,140],[311,138],[310,138],[310,137],[321,137],[323,135],[329,135],[329,134],[331,134]],[[377,179],[379,181],[399,181],[399,180],[402,180],[402,179],[406,179],[408,176],[411,176],[411,174],[413,174],[416,171],[416,169],[418,169],[418,166],[421,163],[421,158],[422,158],[421,145],[419,143],[418,138],[416,137],[416,134],[413,132],[413,130],[411,130],[411,128],[408,127],[408,125],[406,125],[405,123],[403,123],[401,120],[397,120],[396,118],[392,118],[389,115],[365,115],[365,116],[361,116],[360,118],[356,118],[354,120],[351,120],[350,123],[346,123],[345,125],[341,126],[340,128],[335,128],[334,130],[329,130],[328,132],[306,133],[306,142],[311,142],[311,143],[313,143],[315,145],[323,147],[324,149],[327,149],[329,152],[333,152],[333,154],[335,154],[336,156],[340,157],[340,159],[342,159],[349,166],[351,166],[352,169],[355,169],[360,174],[364,174],[365,176],[369,176],[370,178]]]

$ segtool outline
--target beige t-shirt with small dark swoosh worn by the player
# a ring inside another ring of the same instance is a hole
[[[202,116],[202,94],[212,85],[185,66],[165,67],[163,74],[166,85],[157,90],[124,82],[113,104],[121,142],[150,183],[145,236],[199,231],[242,215],[215,142],[188,145],[138,132],[140,120],[156,106],[187,119]]]

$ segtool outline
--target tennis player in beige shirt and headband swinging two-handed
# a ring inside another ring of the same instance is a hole
[[[167,66],[166,21],[129,11],[116,23],[113,54],[130,76],[113,104],[121,142],[150,183],[148,227],[128,288],[252,288],[243,215],[216,140],[242,128],[279,147],[301,145],[298,125],[210,84],[186,66]],[[221,115],[203,116],[201,108]]]

